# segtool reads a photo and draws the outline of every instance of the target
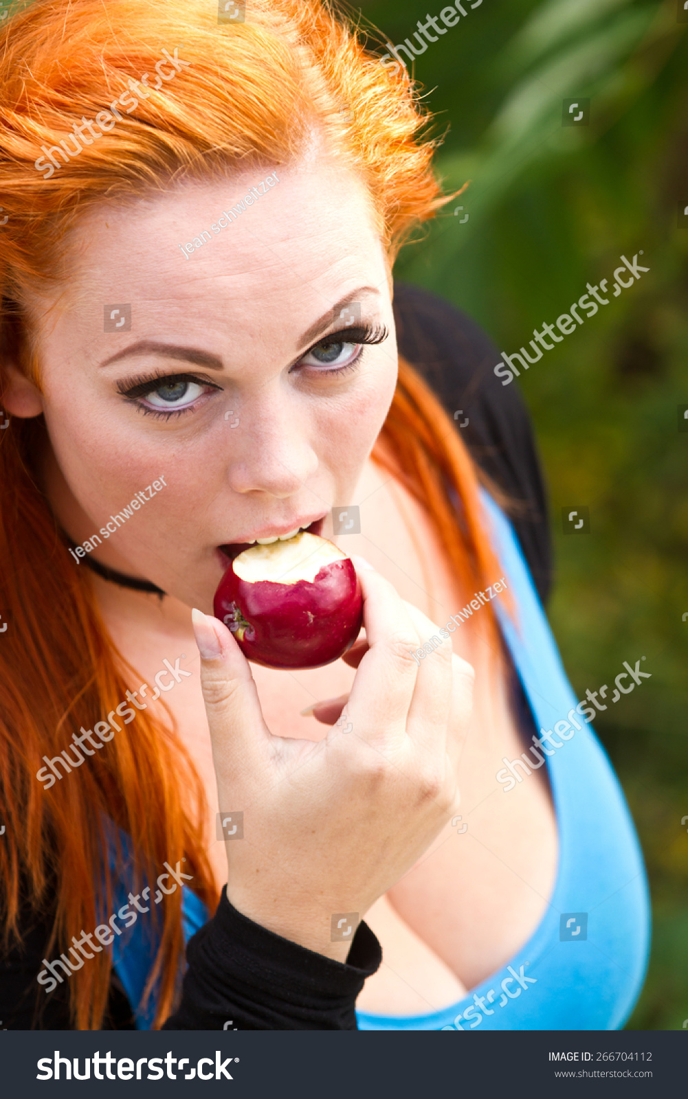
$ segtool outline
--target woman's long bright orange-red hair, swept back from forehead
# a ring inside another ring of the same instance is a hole
[[[42,147],[67,140],[73,123],[107,110],[129,78],[153,74],[160,51],[176,47],[190,63],[176,79],[43,177],[34,166]],[[289,163],[317,129],[329,153],[365,179],[391,263],[410,230],[447,201],[431,170],[425,122],[404,75],[390,77],[359,32],[320,0],[251,0],[246,21],[226,25],[207,0],[108,0],[107,8],[102,0],[34,0],[0,33],[0,206],[8,219],[0,227],[0,407],[5,363],[41,385],[26,295],[68,277],[63,246],[89,204],[240,162]],[[124,726],[98,766],[79,768],[49,793],[36,781],[42,757],[111,712],[135,680],[37,486],[33,457],[44,431],[42,420],[12,419],[0,432],[0,608],[11,612],[0,635],[0,910],[7,946],[24,902],[37,911],[56,902],[49,957],[54,945],[65,950],[95,928],[103,904],[111,911],[106,817],[132,837],[142,881],[186,856],[185,872],[211,911],[218,897],[199,823],[202,785],[171,722],[165,728],[138,713],[135,734]],[[393,460],[423,502],[459,582],[484,587],[499,574],[473,463],[404,363],[381,439],[387,445],[374,457]],[[149,981],[159,978],[156,1026],[178,989],[180,890],[159,921]],[[110,968],[103,951],[70,978],[77,1029],[101,1025]]]

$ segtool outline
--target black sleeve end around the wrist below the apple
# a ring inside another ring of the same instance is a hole
[[[381,959],[363,921],[334,962],[242,915],[222,890],[188,942],[181,1004],[163,1030],[356,1030],[356,997]]]

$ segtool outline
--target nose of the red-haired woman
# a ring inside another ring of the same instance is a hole
[[[311,420],[280,387],[246,401],[236,431],[229,480],[235,492],[293,496],[318,468]]]

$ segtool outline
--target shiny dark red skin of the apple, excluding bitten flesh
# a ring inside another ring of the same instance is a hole
[[[254,664],[320,668],[355,642],[363,597],[348,557],[324,565],[312,582],[293,584],[243,580],[232,563],[218,585],[213,612]]]

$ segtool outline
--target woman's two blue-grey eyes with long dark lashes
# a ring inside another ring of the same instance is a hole
[[[307,370],[310,370],[311,375],[335,377],[345,374],[356,367],[366,346],[381,344],[387,340],[389,330],[384,324],[356,324],[341,329],[337,332],[332,332],[313,344],[292,365],[290,373],[299,367],[306,367]],[[337,352],[336,348],[340,348],[340,351]],[[351,348],[351,352],[346,360],[340,363],[337,359],[345,348]],[[309,357],[312,358],[319,349],[324,356],[323,359],[315,358],[314,363],[306,362]],[[179,399],[186,398],[188,403],[182,407],[173,408],[171,400],[175,399],[174,389],[179,386],[184,387],[184,391],[177,396]],[[206,390],[206,392],[199,392],[192,399],[189,399],[189,387]],[[222,386],[217,385],[210,378],[202,375],[188,373],[168,374],[164,369],[157,369],[149,374],[121,379],[114,384],[114,388],[118,393],[133,403],[136,410],[144,415],[169,420],[171,417],[180,417],[188,412],[193,412],[201,397],[209,396],[210,390],[221,390]],[[167,391],[167,396],[163,396],[163,390]],[[153,397],[158,397],[159,400],[169,402],[169,407],[165,408],[160,404],[152,406],[142,402],[143,398],[151,399]]]

